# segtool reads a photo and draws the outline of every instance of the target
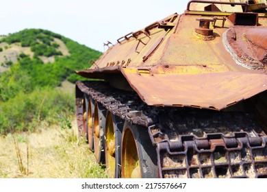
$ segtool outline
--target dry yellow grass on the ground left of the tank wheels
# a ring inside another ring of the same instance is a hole
[[[0,136],[0,178],[106,178],[86,142],[77,139],[74,121],[71,129],[45,127]]]

